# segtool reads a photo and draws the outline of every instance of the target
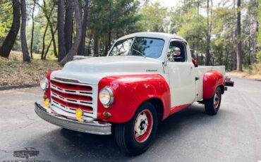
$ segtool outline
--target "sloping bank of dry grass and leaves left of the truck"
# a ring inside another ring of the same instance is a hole
[[[40,60],[40,55],[33,56],[31,63],[23,63],[18,51],[12,51],[8,59],[0,57],[0,86],[36,84],[48,71],[61,68],[54,59]]]

